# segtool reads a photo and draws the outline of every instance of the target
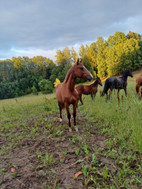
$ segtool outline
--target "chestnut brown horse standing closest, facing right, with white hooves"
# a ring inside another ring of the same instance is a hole
[[[78,131],[76,126],[76,108],[79,100],[79,94],[75,89],[75,80],[77,77],[83,78],[84,80],[91,81],[93,76],[90,72],[83,66],[81,60],[77,60],[76,64],[70,68],[67,72],[65,80],[63,83],[60,83],[56,87],[56,99],[58,101],[58,106],[60,110],[60,121],[62,121],[62,109],[66,108],[67,117],[69,121],[69,131],[72,131],[71,128],[71,114],[69,106],[73,105],[73,118],[74,118],[74,127]]]

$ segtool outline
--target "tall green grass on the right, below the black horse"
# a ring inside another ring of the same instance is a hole
[[[84,96],[84,106],[79,109],[91,121],[101,120],[109,134],[125,147],[135,147],[142,153],[142,100],[137,98],[134,80],[128,84],[128,97],[125,97],[124,91],[120,91],[120,97],[122,95],[123,103],[120,102],[119,105],[117,91],[113,92],[108,102],[105,97],[100,97],[99,92],[95,101],[90,96]]]

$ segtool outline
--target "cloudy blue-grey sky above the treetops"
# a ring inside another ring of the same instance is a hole
[[[0,0],[0,60],[78,52],[116,31],[142,34],[141,0]]]

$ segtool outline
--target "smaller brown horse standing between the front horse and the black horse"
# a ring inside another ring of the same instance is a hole
[[[77,90],[78,94],[79,94],[79,99],[80,99],[80,102],[82,104],[83,104],[82,95],[83,94],[85,94],[85,95],[91,94],[91,97],[93,99],[94,96],[96,95],[97,91],[98,91],[98,85],[102,86],[102,82],[101,82],[100,78],[98,78],[91,85],[79,85],[78,87],[75,88]]]

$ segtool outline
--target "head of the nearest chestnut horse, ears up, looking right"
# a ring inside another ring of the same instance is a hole
[[[77,60],[73,66],[75,77],[83,78],[84,80],[91,81],[93,79],[92,74],[83,66],[82,60]]]

